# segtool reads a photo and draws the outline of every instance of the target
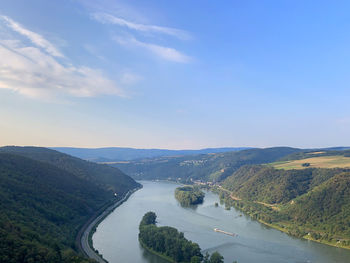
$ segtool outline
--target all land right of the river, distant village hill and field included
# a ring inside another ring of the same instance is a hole
[[[350,248],[348,156],[347,149],[271,148],[117,166],[135,179],[208,184],[227,207],[290,235]]]

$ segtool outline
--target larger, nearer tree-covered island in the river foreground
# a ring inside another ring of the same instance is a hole
[[[183,263],[223,263],[223,257],[214,252],[204,257],[197,243],[187,240],[182,232],[169,226],[158,227],[157,216],[147,212],[139,226],[140,243],[151,252],[165,257],[172,262]]]

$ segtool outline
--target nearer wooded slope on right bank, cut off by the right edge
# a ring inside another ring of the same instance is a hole
[[[314,238],[350,239],[350,172],[334,177],[296,198],[282,211],[296,224],[315,229]],[[348,242],[350,245],[350,242]]]

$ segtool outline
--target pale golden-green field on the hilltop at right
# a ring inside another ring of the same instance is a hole
[[[303,164],[310,164],[308,167]],[[305,169],[305,168],[350,168],[350,157],[342,155],[319,156],[305,158],[301,160],[292,160],[285,162],[274,162],[271,165],[276,169]]]

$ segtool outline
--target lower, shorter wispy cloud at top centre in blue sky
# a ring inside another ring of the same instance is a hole
[[[124,46],[136,46],[136,47],[144,48],[152,52],[156,56],[169,61],[178,62],[178,63],[189,63],[192,60],[191,57],[181,53],[180,51],[174,48],[142,42],[133,37],[129,37],[129,38],[115,37],[115,40],[119,44]]]

